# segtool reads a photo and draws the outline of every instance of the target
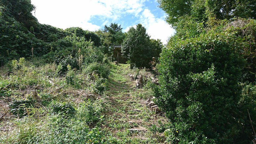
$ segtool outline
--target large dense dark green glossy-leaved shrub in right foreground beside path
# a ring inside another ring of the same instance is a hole
[[[173,143],[244,143],[237,116],[245,60],[225,32],[174,39],[160,57],[156,103],[172,122]],[[247,129],[250,129],[247,127]],[[177,132],[176,132],[177,131]]]

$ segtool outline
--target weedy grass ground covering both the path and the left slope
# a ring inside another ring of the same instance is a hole
[[[28,66],[26,70],[21,69],[11,76],[11,80],[2,77],[0,93],[4,98],[0,98],[0,107],[5,108],[5,115],[0,120],[0,128],[4,129],[0,131],[0,144],[164,143],[162,133],[166,129],[165,124],[168,124],[167,119],[144,104],[148,97],[152,97],[151,89],[136,89],[135,81],[128,76],[129,73],[138,74],[138,69],[131,70],[128,64],[117,66],[111,63],[110,66],[106,89],[101,95],[94,94],[97,99],[93,102],[86,100],[86,96],[92,93],[90,87],[94,84],[93,80],[77,73],[80,85],[68,84],[65,77],[54,75],[57,67],[54,64],[35,70]],[[30,71],[34,71],[34,74],[27,74]],[[139,73],[145,75],[146,71]],[[35,80],[37,83],[34,83]],[[49,80],[55,85],[50,84]],[[36,87],[39,100],[31,106],[22,107],[29,115],[18,118],[6,108],[16,99],[28,103],[28,87]],[[52,106],[65,110],[54,112]],[[132,128],[139,130],[130,131]]]

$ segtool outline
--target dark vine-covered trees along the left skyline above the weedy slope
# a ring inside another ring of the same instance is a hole
[[[1,65],[20,57],[41,57],[60,48],[72,49],[73,35],[101,46],[100,37],[94,32],[82,28],[63,30],[38,23],[31,13],[35,7],[28,0],[1,0],[0,6]]]

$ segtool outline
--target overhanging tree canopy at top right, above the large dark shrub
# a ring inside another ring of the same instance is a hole
[[[206,22],[210,17],[218,20],[256,17],[255,0],[158,0],[158,2],[159,7],[168,14],[166,21],[173,27],[177,27],[177,23],[186,17],[197,22]]]

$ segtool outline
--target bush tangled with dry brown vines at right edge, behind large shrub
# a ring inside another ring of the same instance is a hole
[[[243,70],[243,81],[256,82],[256,20],[235,19],[225,28],[229,35],[227,41],[236,45],[237,52],[247,62]]]

